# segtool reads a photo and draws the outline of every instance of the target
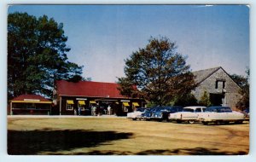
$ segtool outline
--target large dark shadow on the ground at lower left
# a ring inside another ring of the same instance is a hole
[[[69,151],[90,148],[121,139],[132,133],[91,130],[8,130],[9,154],[38,154],[42,151]]]

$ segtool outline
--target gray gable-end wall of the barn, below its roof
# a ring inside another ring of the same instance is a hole
[[[216,89],[217,80],[218,88]],[[223,82],[225,84],[224,88]],[[224,94],[223,106],[235,108],[237,101],[241,98],[241,95],[238,93],[240,89],[230,76],[222,68],[219,68],[217,72],[214,72],[210,77],[201,82],[192,93],[198,101],[200,101],[204,91],[207,91],[208,94]]]

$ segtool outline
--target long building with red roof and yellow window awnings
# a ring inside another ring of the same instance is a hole
[[[125,115],[135,107],[145,107],[143,99],[120,95],[118,86],[115,83],[91,81],[56,81],[53,113],[74,115],[81,107],[82,115],[91,115],[92,107],[96,107],[96,113],[107,114],[108,107],[111,107],[111,114]]]

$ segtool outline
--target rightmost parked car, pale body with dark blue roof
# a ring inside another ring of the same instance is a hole
[[[245,116],[243,113],[232,111],[230,107],[208,107],[205,113],[201,113],[199,119],[202,124],[229,124],[230,122],[241,124]]]

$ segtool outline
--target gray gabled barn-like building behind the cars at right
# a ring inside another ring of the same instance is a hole
[[[200,101],[206,91],[214,106],[227,106],[236,108],[236,103],[241,99],[241,87],[230,78],[222,67],[214,67],[193,72],[197,87],[192,92]]]

